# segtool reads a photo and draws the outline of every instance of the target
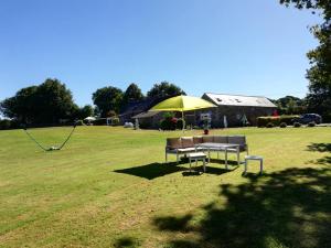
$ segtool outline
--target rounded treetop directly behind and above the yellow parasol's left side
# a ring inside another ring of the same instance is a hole
[[[179,86],[168,82],[161,82],[160,84],[154,84],[153,87],[147,93],[148,97],[160,97],[160,98],[172,97],[178,95],[185,95],[185,93]]]

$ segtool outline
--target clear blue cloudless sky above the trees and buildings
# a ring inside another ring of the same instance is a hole
[[[104,86],[161,80],[194,96],[302,97],[319,21],[278,0],[3,0],[0,100],[47,77],[81,106]]]

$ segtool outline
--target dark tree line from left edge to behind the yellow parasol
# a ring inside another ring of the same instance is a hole
[[[145,96],[138,85],[132,83],[125,91],[113,86],[99,88],[92,95],[94,106],[78,107],[65,84],[47,78],[38,86],[22,88],[14,96],[2,100],[0,111],[17,125],[53,126],[82,120],[88,116],[117,116],[130,103],[181,94],[185,93],[179,86],[161,82],[154,84]]]

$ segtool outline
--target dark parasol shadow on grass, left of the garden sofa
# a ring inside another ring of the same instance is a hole
[[[122,170],[115,170],[114,172],[117,173],[125,173],[129,175],[135,175],[139,177],[143,177],[147,180],[153,180],[160,176],[164,176],[171,173],[180,172],[180,171],[186,171],[186,168],[180,166],[179,163],[175,162],[171,163],[150,163],[141,166],[134,166]]]

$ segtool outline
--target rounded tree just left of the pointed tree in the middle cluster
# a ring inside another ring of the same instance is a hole
[[[97,107],[97,111],[102,117],[106,117],[107,112],[119,112],[122,103],[121,89],[113,86],[97,89],[93,96],[93,103]]]

